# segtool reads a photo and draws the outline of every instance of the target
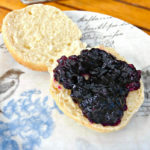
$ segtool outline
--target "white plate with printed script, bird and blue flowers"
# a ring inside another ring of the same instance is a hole
[[[145,103],[120,131],[101,134],[87,129],[63,115],[50,96],[48,100],[48,73],[32,71],[14,61],[0,35],[0,76],[3,76],[0,78],[3,111],[0,150],[148,150],[150,37],[133,25],[107,15],[84,11],[65,13],[78,24],[82,41],[89,47],[113,47],[138,69],[144,69]]]

